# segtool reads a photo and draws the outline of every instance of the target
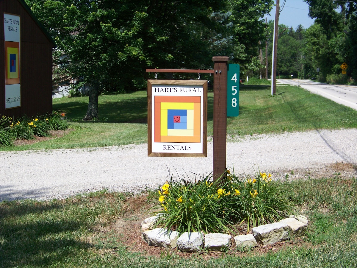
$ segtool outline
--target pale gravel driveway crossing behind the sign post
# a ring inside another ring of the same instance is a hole
[[[227,143],[227,166],[238,174],[258,168],[274,178],[338,174],[357,177],[357,129],[252,135]],[[139,192],[169,178],[212,172],[207,158],[147,157],[147,144],[87,149],[0,152],[0,200],[65,198],[109,189]]]

